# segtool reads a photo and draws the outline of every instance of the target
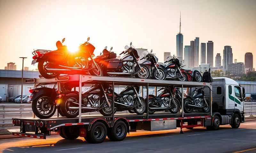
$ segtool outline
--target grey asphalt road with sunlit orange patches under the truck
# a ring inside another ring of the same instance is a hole
[[[0,152],[22,153],[64,153],[64,152],[256,152],[256,121],[242,123],[240,128],[229,125],[220,130],[207,131],[205,128],[184,129],[184,134],[176,130],[155,132],[132,132],[121,142],[108,139],[100,144],[89,144],[84,138],[65,140],[59,135],[49,136],[46,140],[35,138],[17,138],[0,140]]]

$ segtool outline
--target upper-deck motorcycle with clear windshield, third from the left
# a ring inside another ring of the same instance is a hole
[[[152,54],[152,49],[150,53],[148,53],[146,56],[141,58],[140,60],[145,59],[145,61],[141,62],[141,64],[145,64],[148,66],[150,70],[150,76],[152,76],[153,79],[157,80],[164,80],[166,78],[166,74],[164,72],[164,69],[161,67],[158,67],[158,58],[155,54]]]

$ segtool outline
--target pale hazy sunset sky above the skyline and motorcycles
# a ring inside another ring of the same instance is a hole
[[[24,66],[35,69],[33,49],[56,50],[63,38],[75,49],[90,37],[95,55],[105,46],[119,54],[132,42],[153,49],[164,62],[164,52],[176,54],[180,11],[183,47],[195,37],[199,43],[212,40],[214,64],[216,54],[222,62],[224,46],[231,46],[233,62],[244,62],[244,54],[252,52],[255,68],[255,7],[255,0],[1,0],[0,69],[15,62],[20,70],[21,56],[28,57]]]

